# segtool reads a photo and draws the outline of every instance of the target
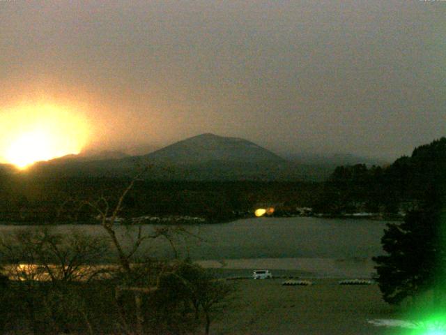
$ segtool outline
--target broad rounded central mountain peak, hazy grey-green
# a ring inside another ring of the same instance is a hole
[[[288,161],[254,142],[210,133],[181,140],[137,159],[141,165],[155,165],[153,174],[167,179],[276,180],[289,172]],[[163,173],[163,167],[168,167],[169,172],[164,169]]]

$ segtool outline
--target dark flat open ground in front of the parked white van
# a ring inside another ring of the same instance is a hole
[[[315,279],[311,286],[282,286],[282,281],[237,281],[237,302],[213,325],[212,334],[400,334],[368,322],[399,318],[377,285]]]

